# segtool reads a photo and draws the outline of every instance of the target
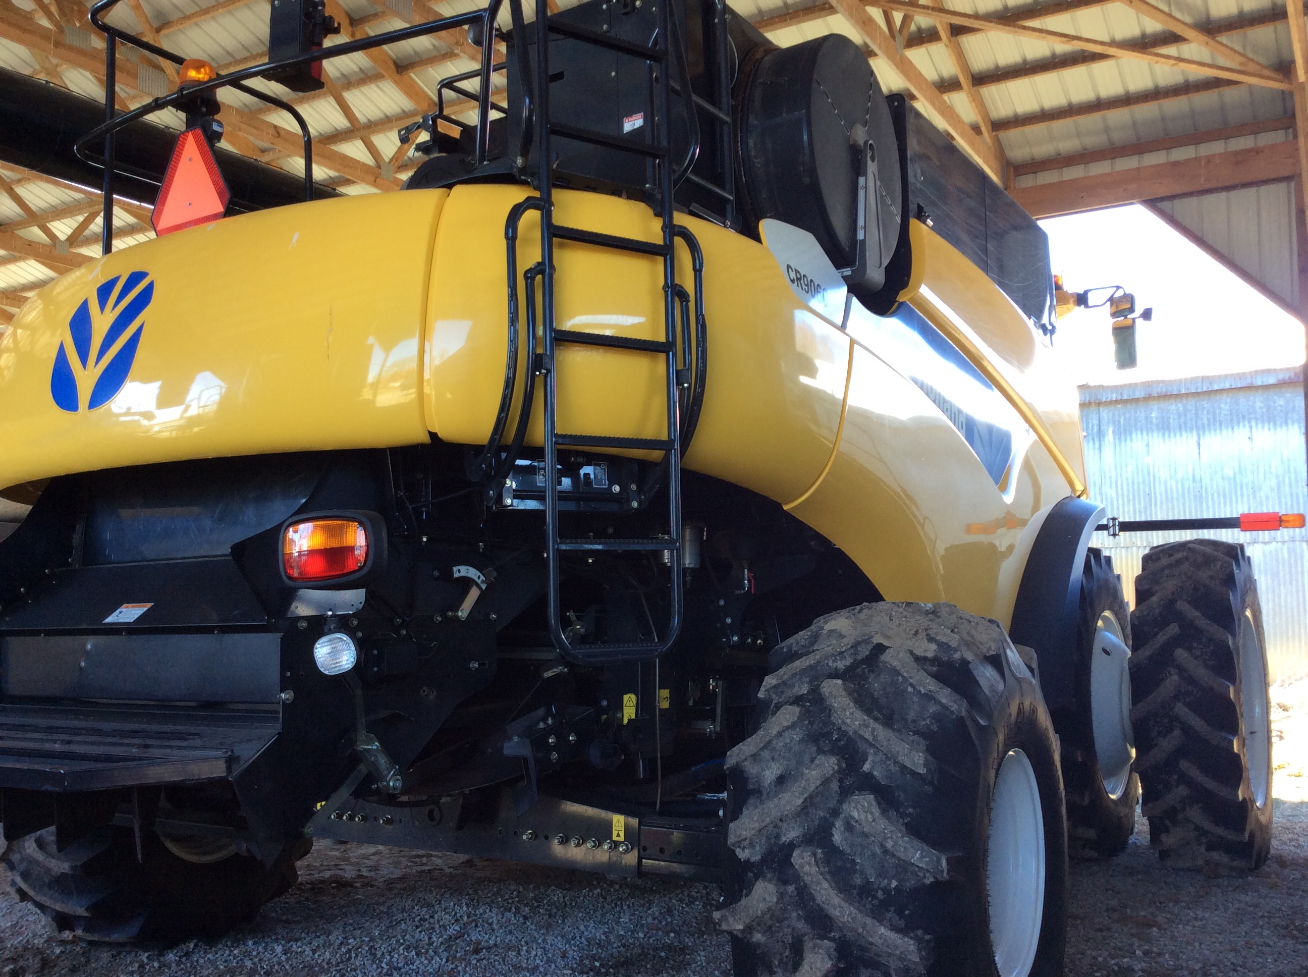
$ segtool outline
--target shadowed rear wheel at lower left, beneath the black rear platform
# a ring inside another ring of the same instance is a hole
[[[63,851],[55,829],[10,842],[4,863],[18,899],[56,931],[94,942],[174,944],[220,936],[296,884],[311,842],[286,845],[271,867],[209,840],[99,828]]]

